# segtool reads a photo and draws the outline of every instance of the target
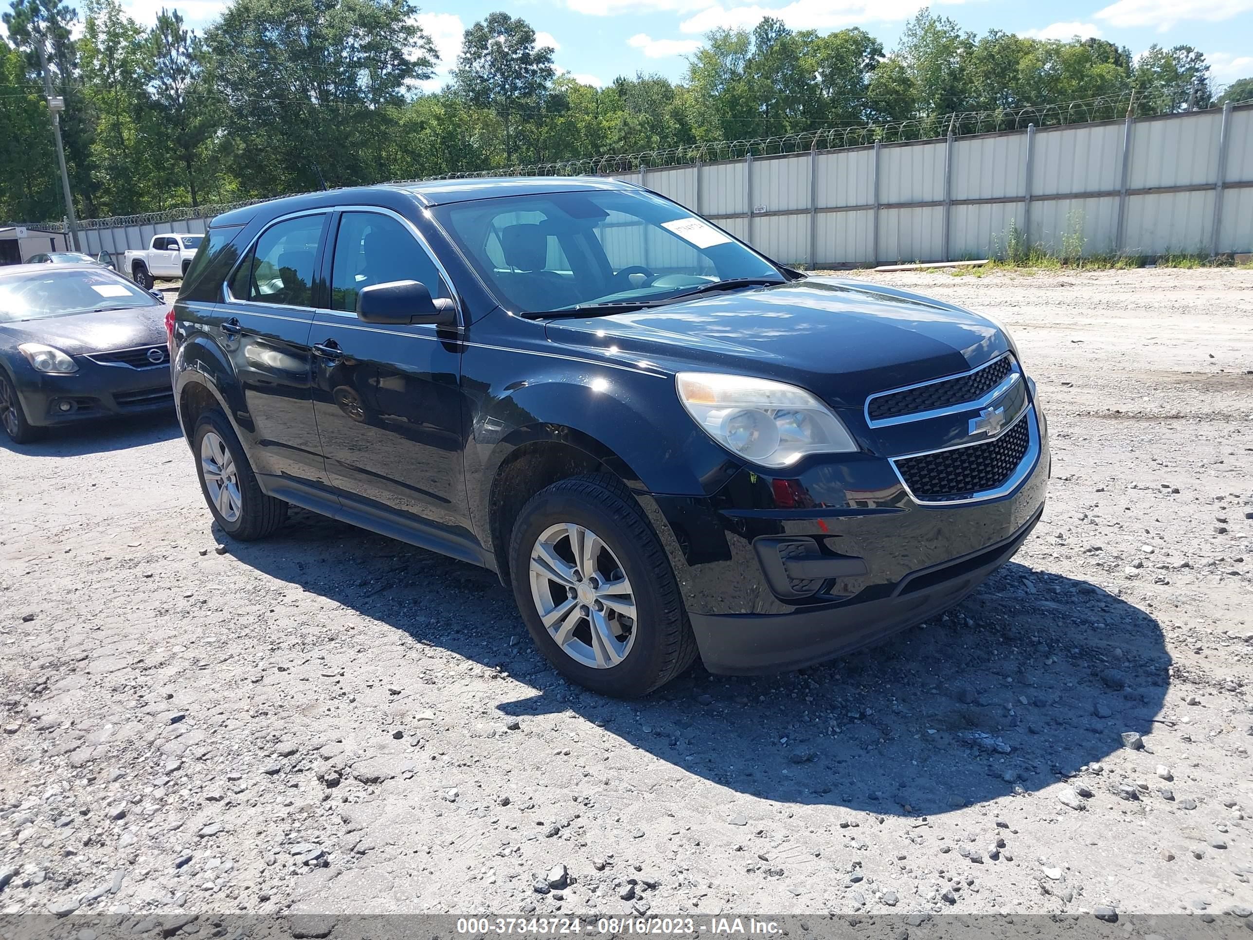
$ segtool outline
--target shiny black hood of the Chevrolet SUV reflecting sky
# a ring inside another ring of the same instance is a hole
[[[744,372],[860,409],[872,392],[941,379],[1010,348],[990,320],[860,281],[808,277],[605,317],[555,320],[549,340],[669,371]]]

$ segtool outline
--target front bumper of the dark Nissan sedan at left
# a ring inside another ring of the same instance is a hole
[[[30,424],[49,427],[174,406],[168,362],[132,368],[104,366],[79,356],[74,361],[79,370],[70,375],[45,375],[34,368],[18,372],[18,397]]]

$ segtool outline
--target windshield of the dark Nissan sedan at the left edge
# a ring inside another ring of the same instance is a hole
[[[157,298],[108,268],[49,268],[0,277],[0,323],[45,320],[128,307],[155,307]]]

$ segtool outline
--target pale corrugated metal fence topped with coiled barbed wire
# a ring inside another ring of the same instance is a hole
[[[1253,251],[1253,104],[614,177],[809,267],[1004,256],[1012,231],[1019,248],[1066,257]],[[80,236],[91,253],[119,253],[207,222]]]

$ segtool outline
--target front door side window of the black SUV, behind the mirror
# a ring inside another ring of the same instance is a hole
[[[356,312],[362,287],[421,281],[432,297],[450,297],[440,269],[417,239],[391,216],[346,212],[340,217],[331,268],[331,308]]]

